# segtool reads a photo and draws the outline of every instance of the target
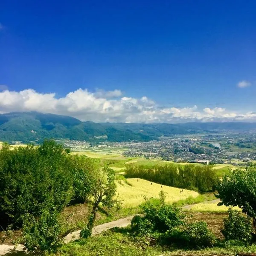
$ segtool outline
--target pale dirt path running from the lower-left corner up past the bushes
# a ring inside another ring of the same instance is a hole
[[[219,202],[219,199],[215,199],[215,200],[211,200],[211,201],[205,201],[204,203],[205,204],[215,204],[218,202]],[[194,204],[185,205],[185,206],[181,207],[181,209],[189,210],[192,208],[193,205]],[[102,233],[103,231],[109,230],[113,227],[127,227],[128,225],[131,224],[131,220],[134,216],[135,215],[131,215],[126,218],[120,218],[117,221],[111,221],[111,222],[107,222],[107,223],[95,226],[95,227],[93,227],[92,236],[98,235],[98,234]],[[67,236],[65,236],[63,238],[64,243],[67,244],[71,241],[79,239],[80,232],[81,232],[81,230],[77,230],[77,231],[72,232],[72,233],[68,234]],[[18,244],[16,248],[14,247],[14,245],[7,245],[7,244],[0,245],[0,255],[22,256],[22,255],[26,255],[24,250],[25,250],[25,247],[22,244]]]

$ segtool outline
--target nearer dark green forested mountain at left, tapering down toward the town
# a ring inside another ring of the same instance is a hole
[[[102,136],[104,136],[102,138]],[[100,138],[97,138],[100,137]],[[28,143],[45,138],[69,138],[96,142],[108,140],[149,141],[156,137],[137,133],[129,128],[118,129],[94,122],[81,122],[70,116],[43,114],[38,112],[6,113],[0,115],[0,141],[22,141]]]

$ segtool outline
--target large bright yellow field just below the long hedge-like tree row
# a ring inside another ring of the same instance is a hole
[[[138,181],[137,181],[138,180]],[[197,197],[198,192],[164,186],[160,184],[152,183],[147,180],[131,178],[127,179],[127,183],[124,180],[116,180],[118,199],[122,201],[122,207],[137,207],[141,203],[145,202],[144,196],[147,198],[159,198],[159,192],[163,190],[166,192],[166,203],[173,203],[180,199],[186,199],[189,196]]]

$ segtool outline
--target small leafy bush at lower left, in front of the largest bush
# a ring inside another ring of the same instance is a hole
[[[23,239],[28,251],[42,255],[55,252],[61,246],[61,224],[58,212],[43,210],[40,218],[26,214],[23,216]]]

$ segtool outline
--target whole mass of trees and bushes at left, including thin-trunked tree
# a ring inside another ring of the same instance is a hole
[[[112,207],[116,193],[112,169],[97,160],[72,156],[54,141],[41,146],[0,150],[0,225],[23,227],[28,250],[56,250],[60,244],[59,215],[68,204],[92,204],[91,232],[99,204]]]

